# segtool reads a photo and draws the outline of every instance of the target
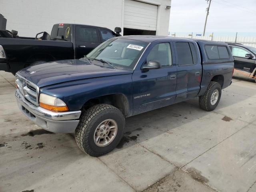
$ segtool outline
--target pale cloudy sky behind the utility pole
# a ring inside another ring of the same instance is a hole
[[[202,33],[208,5],[206,0],[172,0],[169,31]],[[256,0],[212,0],[206,32],[256,36],[255,22]]]

